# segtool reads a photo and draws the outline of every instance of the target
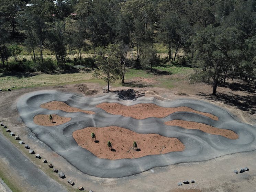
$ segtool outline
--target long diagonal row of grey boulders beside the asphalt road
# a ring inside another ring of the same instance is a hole
[[[6,129],[6,132],[10,133],[11,137],[14,137],[14,136],[15,136],[15,134],[14,134],[13,132],[11,132],[11,130],[8,129],[7,126],[5,126],[3,123],[1,123],[1,126],[3,126],[3,128]],[[35,154],[34,150],[33,150],[33,149],[30,149],[30,146],[27,145],[27,144],[25,144],[24,141],[20,139],[19,135],[16,135],[16,136],[15,136],[15,140],[19,140],[19,144],[24,145],[24,147],[25,147],[26,149],[29,149],[29,154]],[[40,156],[40,154],[36,154],[36,155],[35,155],[35,158],[41,159],[42,157]],[[46,159],[43,159],[42,162],[43,162],[43,163],[47,163],[48,161],[47,161]],[[49,167],[49,168],[52,168],[52,169],[53,169],[53,172],[58,173],[58,176],[59,176],[60,178],[62,178],[62,179],[65,179],[65,178],[66,178],[65,174],[64,174],[63,172],[60,172],[57,168],[55,168],[52,163],[49,163],[49,164],[48,164],[48,167]],[[67,182],[68,182],[70,185],[72,185],[72,186],[75,185],[75,182],[74,182],[72,179],[69,179]],[[78,190],[79,190],[79,191],[83,191],[83,190],[85,190],[85,189],[83,188],[82,185],[79,185]],[[89,192],[93,192],[93,191],[90,190]]]

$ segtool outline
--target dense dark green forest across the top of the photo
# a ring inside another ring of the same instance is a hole
[[[2,0],[0,72],[190,66],[216,88],[256,78],[256,0]],[[22,57],[29,55],[29,57]],[[256,84],[255,84],[256,87]]]

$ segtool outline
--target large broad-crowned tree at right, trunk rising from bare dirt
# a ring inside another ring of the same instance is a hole
[[[212,80],[212,95],[216,95],[216,89],[229,67],[228,52],[238,49],[242,42],[243,33],[232,27],[208,26],[193,37],[193,64],[200,69],[196,75]]]

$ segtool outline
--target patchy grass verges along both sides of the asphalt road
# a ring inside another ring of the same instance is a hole
[[[47,174],[47,176],[51,177],[52,179],[54,179],[55,181],[57,181],[58,183],[62,184],[63,186],[66,187],[66,189],[68,191],[71,192],[75,192],[78,191],[74,189],[73,187],[71,187],[71,185],[67,184],[65,181],[66,180],[59,180],[58,174],[54,173],[52,171],[51,168],[48,167],[48,163],[42,163],[42,159],[36,159],[34,155],[30,155],[29,151],[24,147],[24,145],[20,145],[19,142],[17,140],[15,140],[14,137],[11,137],[10,134],[8,132],[5,132],[5,129],[3,128],[3,126],[0,126],[0,132],[7,138],[9,139],[13,145],[15,147],[17,147],[20,151],[22,151],[22,153],[28,154],[25,155],[27,158],[29,158],[37,167],[39,167],[45,174]],[[50,162],[49,162],[50,163]],[[8,185],[8,187],[13,191],[13,192],[21,192],[18,187],[16,186],[15,183],[13,183],[13,181],[7,179],[6,173],[1,171],[1,167],[0,167],[0,177],[2,178],[2,180]]]

